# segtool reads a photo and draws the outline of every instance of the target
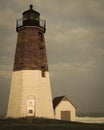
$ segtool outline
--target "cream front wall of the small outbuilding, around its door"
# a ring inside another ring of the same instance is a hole
[[[55,119],[61,120],[61,111],[70,111],[71,121],[76,120],[76,109],[69,101],[61,101],[55,108]]]

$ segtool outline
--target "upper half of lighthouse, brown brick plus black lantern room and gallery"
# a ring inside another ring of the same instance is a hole
[[[23,13],[23,18],[17,20],[16,30],[18,38],[13,70],[48,71],[44,39],[46,22],[40,19],[32,5]]]

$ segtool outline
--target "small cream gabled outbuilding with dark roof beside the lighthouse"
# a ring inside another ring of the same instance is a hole
[[[53,99],[53,108],[55,119],[75,121],[76,107],[66,96],[60,96]]]

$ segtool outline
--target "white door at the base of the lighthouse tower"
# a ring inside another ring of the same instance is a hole
[[[27,116],[35,116],[34,99],[27,99]]]

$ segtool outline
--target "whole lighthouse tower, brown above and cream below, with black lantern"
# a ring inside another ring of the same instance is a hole
[[[17,20],[17,45],[7,117],[54,118],[44,33],[46,22],[30,9]]]

